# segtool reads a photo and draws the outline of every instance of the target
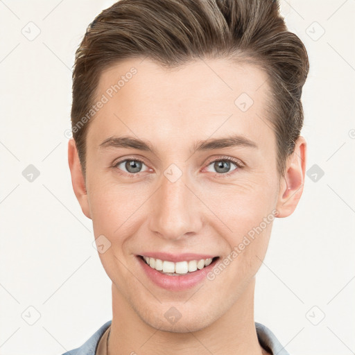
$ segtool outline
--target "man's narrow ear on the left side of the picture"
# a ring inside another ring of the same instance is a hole
[[[69,139],[68,142],[68,163],[71,173],[71,184],[73,185],[75,196],[78,199],[85,216],[91,219],[89,200],[85,187],[85,178],[81,169],[76,142],[73,138]]]

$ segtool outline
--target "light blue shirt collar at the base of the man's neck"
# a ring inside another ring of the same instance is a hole
[[[62,355],[95,355],[98,342],[105,333],[105,330],[110,327],[112,320],[109,320],[98,329],[81,347],[66,352]],[[261,347],[266,349],[272,355],[289,355],[286,349],[279,343],[276,336],[265,325],[255,322],[257,336]]]

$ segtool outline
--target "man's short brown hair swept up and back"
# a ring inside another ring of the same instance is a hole
[[[94,102],[103,69],[128,58],[150,58],[168,68],[230,58],[266,71],[268,121],[277,139],[278,173],[284,175],[304,121],[309,58],[300,38],[287,31],[278,1],[121,0],[103,10],[88,26],[73,70],[71,125],[84,174],[89,122],[78,124]]]

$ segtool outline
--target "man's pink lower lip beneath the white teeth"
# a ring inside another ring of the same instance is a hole
[[[206,275],[212,268],[214,268],[216,261],[218,261],[218,258],[216,258],[209,264],[209,266],[205,266],[205,268],[202,268],[201,270],[188,272],[187,274],[178,276],[170,276],[150,268],[141,257],[137,256],[137,259],[149,279],[157,286],[165,288],[168,291],[184,291],[193,288],[193,286],[196,286],[206,278]]]

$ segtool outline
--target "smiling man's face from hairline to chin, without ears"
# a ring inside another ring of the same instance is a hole
[[[110,98],[107,89],[132,67],[137,73]],[[168,71],[135,59],[102,73],[97,97],[109,100],[87,132],[85,214],[95,238],[111,243],[99,256],[116,299],[157,329],[202,329],[252,297],[279,196],[266,78],[256,67],[227,60]],[[154,153],[108,141],[123,136],[146,141]],[[201,142],[233,136],[251,143],[195,150]],[[180,257],[185,253],[200,256]],[[172,276],[139,257],[149,255],[162,261],[218,259],[207,266],[209,277],[205,268],[194,271],[202,277]],[[229,265],[213,272],[228,256]],[[180,320],[168,322],[167,311]]]

